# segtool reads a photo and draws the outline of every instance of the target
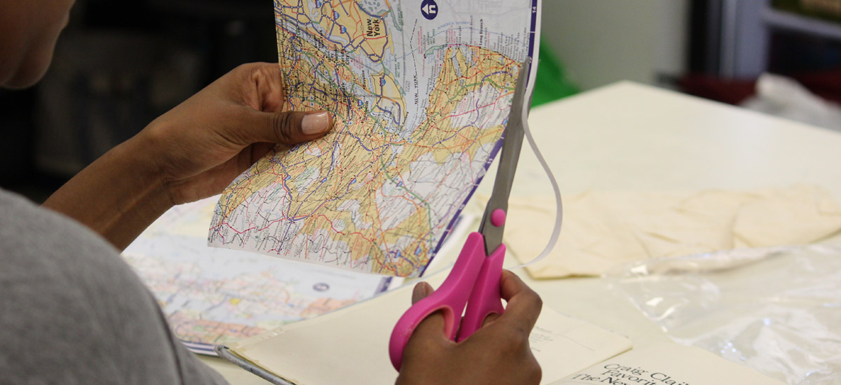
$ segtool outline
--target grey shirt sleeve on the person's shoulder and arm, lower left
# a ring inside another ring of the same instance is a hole
[[[225,383],[99,235],[2,190],[0,217],[0,383]]]

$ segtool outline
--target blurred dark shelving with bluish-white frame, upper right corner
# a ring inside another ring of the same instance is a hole
[[[739,104],[764,72],[841,103],[841,0],[695,0],[682,92]]]

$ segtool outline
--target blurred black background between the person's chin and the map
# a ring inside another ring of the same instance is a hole
[[[271,0],[77,0],[47,75],[0,89],[0,187],[37,202],[241,63],[278,61]]]

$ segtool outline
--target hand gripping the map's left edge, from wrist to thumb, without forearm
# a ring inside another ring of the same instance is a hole
[[[277,63],[236,67],[135,136],[172,204],[221,193],[276,144],[295,145],[331,129],[329,113],[283,112]]]

